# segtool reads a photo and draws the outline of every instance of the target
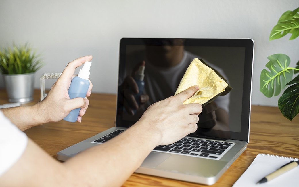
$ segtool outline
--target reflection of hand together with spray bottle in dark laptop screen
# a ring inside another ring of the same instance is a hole
[[[124,80],[123,106],[130,115],[134,115],[136,110],[149,100],[148,95],[142,94],[144,88],[144,68],[145,61],[136,64],[132,74]]]

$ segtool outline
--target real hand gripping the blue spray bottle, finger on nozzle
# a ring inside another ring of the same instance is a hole
[[[68,63],[61,76],[51,87],[51,90],[45,99],[36,104],[38,114],[40,118],[44,120],[44,123],[60,121],[65,118],[71,110],[77,108],[81,108],[77,121],[82,121],[82,116],[85,114],[89,105],[87,97],[91,94],[92,83],[89,80],[90,85],[85,98],[78,97],[70,99],[68,95],[68,88],[71,85],[71,80],[77,76],[73,75],[75,69],[91,59],[92,56],[90,55],[80,57]]]

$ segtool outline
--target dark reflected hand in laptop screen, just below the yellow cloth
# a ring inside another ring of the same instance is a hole
[[[199,114],[199,122],[198,127],[199,128],[206,128],[206,129],[212,129],[217,121],[216,117],[216,110],[218,109],[218,105],[213,101],[205,106],[202,107],[202,113]]]

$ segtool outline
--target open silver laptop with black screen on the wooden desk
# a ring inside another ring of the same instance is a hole
[[[249,141],[253,55],[252,39],[122,38],[115,127],[61,150],[57,159],[67,160],[132,126],[150,104],[174,95],[188,65],[197,57],[217,70],[232,90],[212,102],[218,106],[215,111],[199,115],[196,132],[173,144],[157,146],[135,172],[216,183]],[[144,68],[140,70],[140,66]],[[136,74],[144,82],[140,93],[147,96],[140,103],[140,95],[134,95],[138,109],[129,105],[124,94],[130,91],[126,77]]]

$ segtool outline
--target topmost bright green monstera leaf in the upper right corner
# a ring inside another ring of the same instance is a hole
[[[293,11],[286,11],[283,13],[283,15],[280,17],[280,19],[277,22],[277,25],[275,25],[270,33],[269,40],[272,39],[278,39],[286,34],[290,33],[292,36],[291,39],[295,39],[299,36],[299,8],[293,10]]]

